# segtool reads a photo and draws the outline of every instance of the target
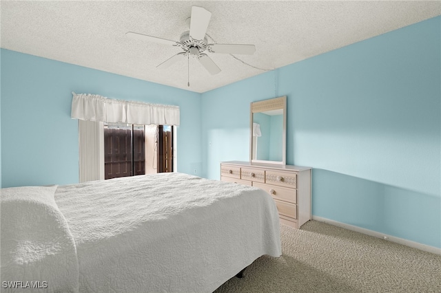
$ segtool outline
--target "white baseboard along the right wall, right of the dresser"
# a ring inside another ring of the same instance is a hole
[[[400,244],[402,244],[404,246],[409,246],[411,248],[417,248],[419,250],[423,250],[423,251],[426,251],[426,252],[431,252],[431,253],[434,253],[434,254],[441,254],[441,248],[436,248],[434,246],[428,246],[428,245],[425,245],[425,244],[422,244],[422,243],[410,241],[410,240],[407,240],[407,239],[402,239],[402,238],[399,238],[399,237],[394,237],[394,236],[391,236],[391,235],[386,235],[386,234],[383,234],[383,233],[380,233],[380,232],[376,232],[376,231],[373,231],[373,230],[369,230],[369,229],[365,229],[365,228],[360,228],[360,227],[357,227],[357,226],[352,226],[352,225],[349,225],[349,224],[341,223],[339,221],[334,221],[334,220],[326,219],[326,218],[322,218],[322,217],[312,216],[312,219],[314,221],[321,221],[323,223],[331,224],[331,225],[338,226],[338,227],[341,227],[341,228],[345,228],[347,230],[351,230],[351,231],[355,231],[355,232],[360,232],[362,234],[366,234],[366,235],[369,235],[369,236],[377,237],[377,238],[384,239],[384,240],[387,240],[387,241],[392,241],[392,242],[395,242],[395,243],[400,243]]]

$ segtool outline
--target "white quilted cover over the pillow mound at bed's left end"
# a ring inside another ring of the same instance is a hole
[[[1,292],[78,292],[74,239],[56,188],[1,189]]]

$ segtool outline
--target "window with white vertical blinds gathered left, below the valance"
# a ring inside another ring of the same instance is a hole
[[[79,120],[79,182],[176,169],[176,127]]]

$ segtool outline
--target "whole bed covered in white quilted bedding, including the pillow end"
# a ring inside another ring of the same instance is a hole
[[[2,292],[212,292],[263,254],[281,254],[278,212],[251,186],[158,173],[1,190]]]

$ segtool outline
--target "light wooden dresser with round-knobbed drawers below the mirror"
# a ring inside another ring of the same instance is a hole
[[[256,186],[276,202],[280,222],[300,228],[311,219],[311,168],[254,162],[221,162],[220,180]]]

